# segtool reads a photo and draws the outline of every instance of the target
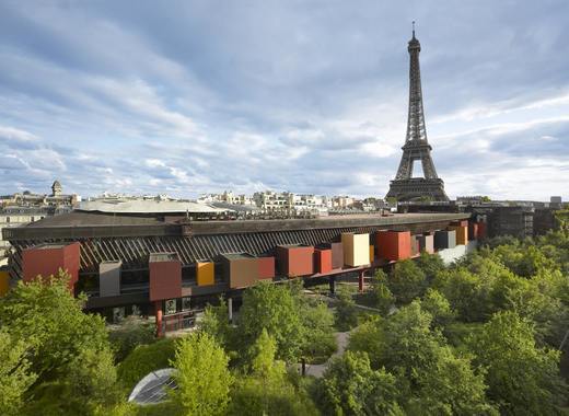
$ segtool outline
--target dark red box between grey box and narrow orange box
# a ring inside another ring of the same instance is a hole
[[[182,262],[176,253],[151,253],[150,301],[182,298]]]

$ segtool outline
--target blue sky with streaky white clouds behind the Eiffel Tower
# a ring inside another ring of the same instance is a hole
[[[0,194],[383,197],[417,21],[451,198],[569,199],[569,1],[0,1]]]

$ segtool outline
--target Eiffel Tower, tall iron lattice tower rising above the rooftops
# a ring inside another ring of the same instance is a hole
[[[422,109],[421,70],[419,68],[419,53],[421,44],[415,37],[415,22],[413,22],[413,38],[407,48],[410,55],[409,68],[409,115],[407,118],[407,137],[403,149],[403,157],[395,180],[391,182],[390,192],[385,198],[395,197],[399,201],[407,200],[449,200],[444,193],[444,182],[437,176],[434,163],[431,159],[431,146],[427,141],[425,128],[425,112]],[[413,165],[421,161],[425,177],[413,177]]]

